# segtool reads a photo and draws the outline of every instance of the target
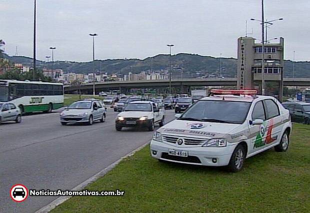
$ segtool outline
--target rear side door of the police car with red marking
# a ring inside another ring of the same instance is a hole
[[[272,99],[262,101],[266,113],[266,129],[264,143],[266,146],[273,145],[281,139],[281,131],[283,127],[282,117],[277,103]]]

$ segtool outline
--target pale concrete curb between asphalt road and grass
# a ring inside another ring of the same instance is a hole
[[[93,176],[89,177],[88,179],[86,179],[82,183],[78,184],[77,186],[75,186],[71,190],[82,190],[89,183],[92,183],[96,179],[98,179],[99,177],[104,176],[108,171],[110,171],[112,168],[114,168],[122,159],[124,159],[126,157],[129,157],[129,156],[132,156],[135,152],[141,150],[147,144],[149,144],[149,142],[146,142],[145,144],[139,146],[138,148],[134,149],[130,153],[128,153],[125,156],[121,157],[120,159],[116,160],[115,162],[113,162],[112,164],[110,164],[107,167],[103,168],[101,171],[99,171],[98,173],[96,173]],[[47,205],[45,205],[45,206],[41,207],[40,209],[38,209],[37,211],[35,211],[35,213],[46,213],[46,212],[49,212],[51,209],[55,208],[57,205],[60,205],[61,203],[63,203],[67,199],[69,199],[70,197],[71,196],[60,196],[57,199],[51,201]]]

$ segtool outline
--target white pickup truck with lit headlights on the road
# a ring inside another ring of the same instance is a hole
[[[164,125],[165,111],[158,109],[152,101],[138,100],[128,103],[124,110],[117,114],[115,128],[120,131],[122,127],[146,127],[154,130],[156,123]]]

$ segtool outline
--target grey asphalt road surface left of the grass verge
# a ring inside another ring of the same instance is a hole
[[[150,141],[153,132],[116,131],[117,112],[108,108],[106,121],[93,125],[59,123],[59,113],[23,116],[21,123],[0,124],[0,212],[34,212],[57,197],[28,196],[20,203],[10,187],[72,189],[109,164]],[[166,119],[173,119],[166,110]],[[158,128],[158,125],[156,125]]]

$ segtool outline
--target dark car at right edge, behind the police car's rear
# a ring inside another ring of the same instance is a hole
[[[309,124],[310,103],[307,102],[283,102],[284,108],[289,110],[291,121]]]

